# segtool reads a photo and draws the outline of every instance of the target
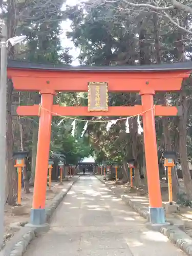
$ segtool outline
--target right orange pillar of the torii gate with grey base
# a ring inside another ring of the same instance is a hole
[[[148,184],[148,197],[150,200],[150,222],[153,224],[165,223],[165,214],[162,207],[161,187],[159,182],[159,165],[157,155],[157,141],[155,131],[155,91],[140,92],[143,106],[143,131],[146,159],[146,172]]]

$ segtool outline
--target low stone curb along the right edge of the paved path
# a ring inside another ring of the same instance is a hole
[[[149,221],[149,212],[147,207],[140,207],[138,204],[135,204],[133,201],[129,200],[124,195],[118,195],[115,193],[114,189],[105,183],[105,181],[99,179],[96,175],[95,177],[105,184],[106,187],[110,188],[117,197],[120,197],[126,204],[128,204],[132,209],[134,209],[140,216]],[[175,244],[178,248],[183,250],[187,255],[192,256],[192,239],[189,237],[184,231],[179,229],[178,227],[173,225],[168,225],[166,227],[162,227],[159,232],[164,234],[173,244]]]

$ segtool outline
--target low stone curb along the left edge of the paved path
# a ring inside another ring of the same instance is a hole
[[[61,191],[53,199],[51,205],[46,208],[46,221],[48,222],[53,215],[53,212],[60,204],[62,199],[68,194],[72,186],[77,182],[79,177],[75,181],[71,182],[71,185]],[[22,256],[27,249],[29,243],[35,238],[37,234],[37,228],[35,227],[22,227],[18,233],[16,233],[12,239],[5,245],[3,250],[0,252],[0,256]],[[15,240],[15,241],[14,241]]]

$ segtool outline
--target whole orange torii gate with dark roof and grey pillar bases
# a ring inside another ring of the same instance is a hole
[[[143,113],[145,158],[152,223],[165,223],[162,207],[155,132],[155,116],[179,115],[175,106],[156,105],[155,92],[179,91],[184,78],[192,70],[191,62],[151,65],[151,66],[62,66],[10,61],[8,77],[13,80],[18,91],[39,91],[39,105],[19,106],[20,116],[39,115],[39,132],[36,172],[31,224],[45,224],[45,201],[47,186],[47,166],[53,113],[62,116],[132,116]],[[58,91],[88,92],[89,82],[107,82],[109,92],[139,92],[142,104],[135,106],[111,106],[108,111],[88,111],[84,106],[53,105],[53,97]]]

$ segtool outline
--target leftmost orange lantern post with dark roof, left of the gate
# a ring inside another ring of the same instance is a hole
[[[22,170],[25,167],[25,158],[28,155],[28,151],[20,151],[13,153],[13,158],[15,158],[15,167],[17,167],[18,173],[18,186],[17,186],[17,205],[22,204]]]

